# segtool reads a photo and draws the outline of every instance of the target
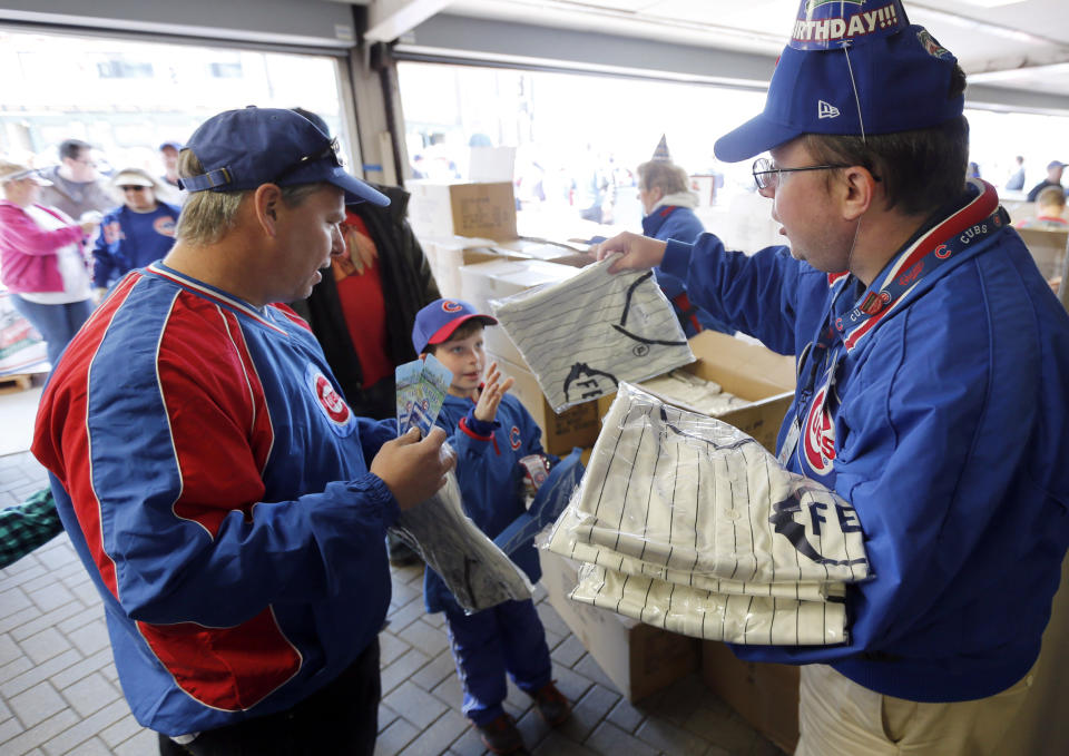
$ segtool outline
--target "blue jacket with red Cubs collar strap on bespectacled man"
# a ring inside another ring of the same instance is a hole
[[[785,247],[668,244],[695,301],[798,355],[781,454],[853,504],[875,572],[849,589],[849,644],[738,656],[918,701],[1034,662],[1069,544],[1069,316],[997,206],[974,183],[867,288]]]

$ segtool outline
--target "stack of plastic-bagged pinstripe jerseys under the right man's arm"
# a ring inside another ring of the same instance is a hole
[[[717,420],[627,383],[548,548],[587,562],[571,598],[738,644],[846,639],[870,577],[853,509]]]

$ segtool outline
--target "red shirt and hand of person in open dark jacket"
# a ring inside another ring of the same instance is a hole
[[[394,364],[386,356],[386,305],[382,296],[379,253],[367,226],[354,213],[346,212],[342,224],[345,254],[334,257],[332,269],[337,284],[345,327],[356,348],[366,389],[391,374]],[[363,259],[361,272],[353,256]]]

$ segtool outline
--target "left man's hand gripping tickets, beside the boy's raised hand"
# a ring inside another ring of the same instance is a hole
[[[371,472],[386,484],[401,509],[411,509],[430,499],[445,484],[445,473],[453,469],[457,459],[443,455],[442,442],[445,431],[432,428],[420,440],[419,429],[410,429],[400,439],[388,441],[371,461]]]

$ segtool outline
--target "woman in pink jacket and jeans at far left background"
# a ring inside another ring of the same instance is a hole
[[[92,312],[82,242],[98,222],[75,223],[38,205],[43,183],[36,170],[0,160],[0,279],[14,308],[41,332],[55,366]]]

